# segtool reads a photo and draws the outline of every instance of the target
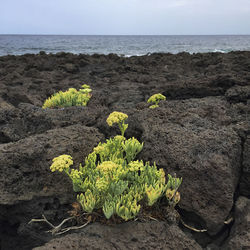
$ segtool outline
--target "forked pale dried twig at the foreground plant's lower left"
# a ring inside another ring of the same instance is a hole
[[[43,219],[32,219],[28,224],[31,224],[32,222],[45,222],[52,228],[51,230],[48,230],[46,232],[51,233],[52,235],[60,235],[60,234],[66,233],[70,230],[81,229],[81,228],[86,227],[90,223],[90,220],[88,220],[85,224],[83,224],[81,226],[72,226],[72,227],[62,228],[62,226],[67,221],[74,219],[74,217],[69,217],[69,218],[64,219],[58,226],[54,226],[52,223],[50,223],[44,215],[42,215],[42,217],[43,217]]]

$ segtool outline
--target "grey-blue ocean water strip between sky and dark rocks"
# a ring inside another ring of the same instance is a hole
[[[26,53],[145,55],[154,52],[222,52],[250,50],[250,35],[85,36],[0,35],[0,56]]]

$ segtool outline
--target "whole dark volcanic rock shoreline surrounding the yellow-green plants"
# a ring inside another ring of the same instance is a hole
[[[41,108],[83,83],[93,89],[87,107]],[[0,86],[0,249],[250,248],[250,52],[4,56]],[[167,100],[151,110],[154,93]],[[128,114],[127,136],[144,142],[139,158],[183,177],[178,211],[206,233],[149,221],[54,238],[28,225],[67,217],[75,195],[51,160],[67,153],[82,162],[113,135],[105,120],[114,110]]]

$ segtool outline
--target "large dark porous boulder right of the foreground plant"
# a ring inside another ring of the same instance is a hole
[[[183,178],[180,207],[218,233],[234,203],[240,177],[241,140],[221,98],[171,101],[144,109],[132,122],[142,131],[140,158]]]

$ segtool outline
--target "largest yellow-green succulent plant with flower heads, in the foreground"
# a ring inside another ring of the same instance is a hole
[[[125,221],[134,218],[141,206],[154,205],[164,194],[168,201],[175,199],[182,181],[168,175],[166,183],[163,169],[135,160],[143,143],[124,137],[127,117],[121,112],[109,115],[107,123],[110,126],[118,123],[121,135],[99,143],[86,157],[84,166],[70,168],[73,165],[71,156],[61,155],[50,167],[51,171],[65,172],[71,178],[73,189],[78,193],[77,201],[85,212],[102,209],[107,219],[117,215]],[[175,192],[170,198],[168,190]],[[178,201],[169,204],[175,206]]]

